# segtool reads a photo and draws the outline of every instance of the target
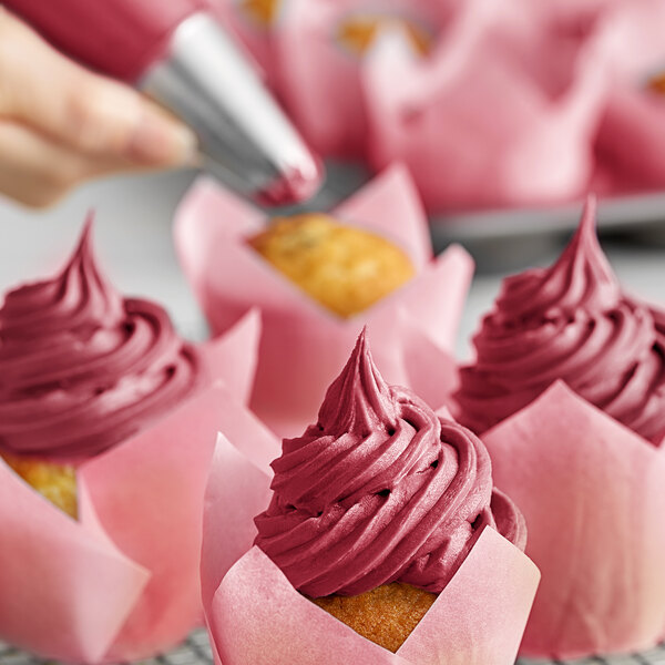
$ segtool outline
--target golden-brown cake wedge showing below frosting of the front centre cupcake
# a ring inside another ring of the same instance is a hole
[[[383,584],[357,596],[311,598],[356,633],[395,653],[437,600],[410,584]]]

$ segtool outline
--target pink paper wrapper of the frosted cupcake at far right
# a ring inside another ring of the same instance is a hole
[[[522,653],[640,651],[665,626],[665,454],[552,386],[483,436],[542,572]]]

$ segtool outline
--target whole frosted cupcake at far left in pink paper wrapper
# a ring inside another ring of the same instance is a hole
[[[0,603],[0,640],[96,663],[196,625],[211,431],[233,424],[250,386],[256,325],[182,340],[162,307],[111,286],[90,223],[55,277],[7,294],[0,589],[12,603]],[[183,540],[167,548],[174,531]]]

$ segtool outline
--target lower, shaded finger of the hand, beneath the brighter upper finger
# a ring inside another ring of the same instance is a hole
[[[24,125],[0,123],[0,193],[31,207],[55,203],[81,181],[131,166],[121,157],[72,151]]]

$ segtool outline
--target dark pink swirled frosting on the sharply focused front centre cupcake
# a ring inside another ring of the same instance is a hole
[[[488,525],[525,544],[521,514],[493,491],[482,442],[388,386],[365,332],[318,423],[285,439],[273,468],[256,544],[313,597],[396,581],[438,593]]]

